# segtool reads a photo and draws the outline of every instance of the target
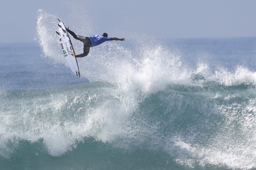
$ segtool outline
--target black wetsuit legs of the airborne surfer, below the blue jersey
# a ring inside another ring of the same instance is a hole
[[[90,48],[92,46],[91,40],[89,37],[83,37],[81,35],[76,35],[73,31],[70,31],[68,28],[66,30],[72,35],[76,40],[82,41],[84,43],[84,53],[76,55],[76,58],[85,57],[88,55]]]

